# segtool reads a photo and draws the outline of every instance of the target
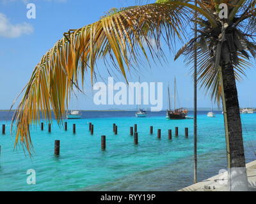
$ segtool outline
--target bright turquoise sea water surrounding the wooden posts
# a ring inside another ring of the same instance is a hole
[[[47,133],[46,124],[44,131],[33,127],[32,158],[24,156],[22,147],[13,150],[10,121],[0,121],[6,124],[6,135],[0,135],[0,191],[175,191],[193,183],[193,120],[166,120],[164,112],[143,119],[132,117],[133,113],[93,114],[84,112],[86,118],[68,120],[67,132],[56,122],[52,133]],[[242,121],[249,162],[256,159],[256,114],[242,115]],[[94,124],[93,136],[88,122]],[[113,134],[113,123],[118,135]],[[129,136],[133,124],[138,124],[138,146]],[[153,135],[149,135],[149,126],[154,126]],[[174,136],[176,126],[178,138]],[[185,138],[184,128],[189,128],[189,138]],[[162,129],[161,140],[157,129]],[[173,130],[171,141],[168,129]],[[101,135],[106,135],[103,152]],[[53,155],[54,140],[61,141],[60,157]],[[208,118],[202,112],[198,115],[198,179],[216,175],[225,166],[223,115]],[[26,183],[28,169],[36,171],[36,185]]]

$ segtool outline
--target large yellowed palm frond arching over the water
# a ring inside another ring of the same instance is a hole
[[[149,50],[154,53],[152,57],[157,53],[161,57],[161,36],[166,36],[170,46],[175,38],[181,38],[189,11],[189,8],[172,3],[134,6],[65,33],[36,65],[25,87],[12,120],[17,126],[15,145],[20,142],[30,154],[29,125],[40,122],[40,112],[45,119],[51,120],[52,110],[60,124],[72,87],[79,88],[78,78],[81,76],[83,81],[87,71],[93,81],[98,59],[110,59],[126,78],[131,64],[138,62],[140,54],[147,58]],[[154,47],[150,45],[152,40],[156,41]]]

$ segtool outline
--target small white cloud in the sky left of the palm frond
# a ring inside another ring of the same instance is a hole
[[[12,24],[6,15],[0,13],[0,36],[4,38],[17,38],[22,34],[33,33],[32,25],[24,22],[21,24]]]

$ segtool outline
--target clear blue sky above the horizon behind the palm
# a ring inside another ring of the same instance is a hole
[[[150,1],[145,1],[150,2]],[[28,3],[35,3],[36,18],[28,19],[26,13]],[[132,0],[0,0],[0,109],[8,109],[13,99],[26,85],[33,68],[42,55],[62,38],[68,29],[76,29],[91,24],[111,8],[121,8],[138,3]],[[180,106],[193,107],[193,80],[190,69],[181,57],[173,62],[173,54],[166,54],[168,64],[152,64],[151,69],[145,66],[139,70],[143,82],[163,82],[173,84],[177,77]],[[255,62],[253,62],[255,64]],[[102,77],[108,73],[104,64],[98,64]],[[256,96],[252,87],[255,85],[255,66],[248,69],[243,82],[237,82],[241,106],[256,106]],[[88,77],[86,77],[88,79]],[[122,77],[115,78],[122,81]],[[129,76],[129,81],[138,81],[138,74]],[[86,96],[79,94],[77,108],[84,110],[108,108],[135,108],[132,106],[96,106],[93,104],[93,93],[90,82],[86,81]],[[167,93],[166,93],[167,95]],[[164,96],[164,108],[167,98]],[[210,107],[211,99],[203,90],[198,91],[198,106]],[[147,108],[147,107],[146,107]]]

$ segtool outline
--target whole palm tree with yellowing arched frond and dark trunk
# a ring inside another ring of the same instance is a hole
[[[15,145],[21,143],[31,152],[29,124],[39,122],[40,110],[51,120],[51,110],[58,122],[65,113],[73,87],[90,72],[95,78],[95,64],[110,61],[126,79],[127,72],[140,66],[142,59],[162,59],[163,43],[170,50],[175,41],[188,41],[175,56],[186,62],[198,62],[198,83],[211,97],[222,99],[225,115],[228,170],[232,190],[246,189],[243,135],[239,115],[236,80],[244,75],[250,57],[256,57],[255,0],[159,0],[143,6],[112,10],[99,21],[64,33],[35,66],[24,88],[13,121],[17,125]],[[220,4],[225,3],[227,18]],[[197,17],[195,17],[195,11]],[[188,27],[198,24],[198,35],[189,38]],[[152,41],[155,45],[152,46]],[[196,47],[196,52],[195,52]],[[195,55],[196,53],[196,55]],[[238,177],[237,177],[238,176]]]

